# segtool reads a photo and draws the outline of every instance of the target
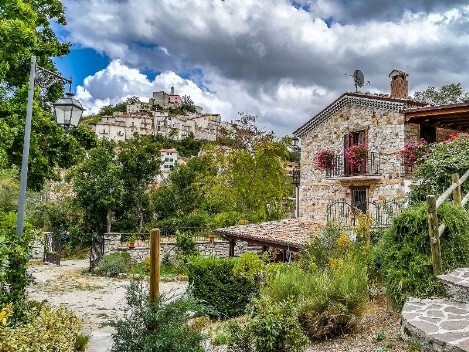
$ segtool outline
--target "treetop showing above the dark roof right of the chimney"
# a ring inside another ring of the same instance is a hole
[[[430,105],[454,104],[468,101],[469,93],[463,90],[461,83],[451,83],[440,89],[429,86],[423,92],[415,92],[414,99]]]

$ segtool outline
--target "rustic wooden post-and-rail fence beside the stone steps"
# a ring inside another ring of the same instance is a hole
[[[430,236],[430,248],[432,251],[432,263],[433,273],[440,275],[443,273],[441,268],[441,247],[440,247],[440,236],[445,231],[445,224],[438,224],[438,217],[436,210],[448,197],[453,195],[453,204],[464,207],[469,200],[469,192],[462,198],[461,184],[469,177],[469,170],[459,178],[458,174],[451,175],[452,184],[444,191],[441,196],[436,199],[434,195],[427,196],[427,210],[428,210],[428,234]]]

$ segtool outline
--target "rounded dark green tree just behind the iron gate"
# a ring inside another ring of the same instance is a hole
[[[125,186],[115,146],[112,141],[99,141],[70,175],[85,220],[91,229],[101,232],[110,231],[112,212],[124,202]]]

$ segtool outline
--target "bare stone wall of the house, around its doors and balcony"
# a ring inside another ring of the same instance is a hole
[[[326,179],[325,172],[314,164],[316,154],[330,148],[344,153],[344,135],[366,130],[368,149],[379,153],[381,176]],[[368,199],[384,201],[402,199],[404,177],[399,151],[406,135],[415,135],[415,126],[404,127],[404,116],[395,111],[349,104],[320,124],[301,141],[300,216],[326,222],[326,208],[332,201],[351,201],[350,186],[368,188]]]

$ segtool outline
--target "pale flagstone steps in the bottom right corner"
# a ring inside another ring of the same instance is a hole
[[[409,298],[402,308],[404,338],[425,351],[469,352],[469,268],[438,276],[447,299]]]

